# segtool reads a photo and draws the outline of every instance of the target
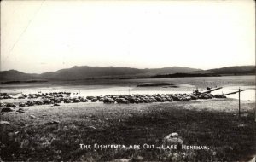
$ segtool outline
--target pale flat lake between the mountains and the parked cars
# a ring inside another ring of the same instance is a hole
[[[145,83],[172,83],[176,87],[137,87]],[[49,93],[71,92],[72,95],[131,95],[131,94],[175,94],[192,93],[193,90],[206,90],[207,87],[223,87],[212,94],[241,92],[241,100],[255,101],[255,76],[223,76],[196,78],[138,78],[138,79],[96,79],[76,81],[50,81],[32,84],[0,84],[1,92],[7,93]],[[238,94],[227,95],[238,99]]]

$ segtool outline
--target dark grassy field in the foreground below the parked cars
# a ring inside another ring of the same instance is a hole
[[[183,101],[148,104],[73,103],[26,107],[25,113],[2,113],[1,159],[111,161],[235,161],[256,154],[253,101]],[[32,116],[31,116],[32,115]],[[58,124],[48,124],[57,120]],[[207,150],[81,149],[79,144],[160,146],[177,132],[186,145]]]

